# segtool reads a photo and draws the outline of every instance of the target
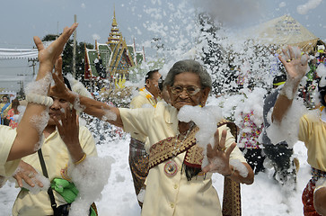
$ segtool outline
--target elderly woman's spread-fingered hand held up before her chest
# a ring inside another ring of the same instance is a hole
[[[219,139],[218,130],[214,134],[214,148],[211,144],[207,145],[207,159],[209,164],[202,171],[219,173],[221,175],[231,175],[233,168],[230,166],[230,154],[236,146],[234,142],[229,148],[225,148],[226,130],[222,131],[222,137]]]

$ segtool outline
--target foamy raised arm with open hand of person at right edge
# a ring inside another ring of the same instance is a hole
[[[283,57],[279,56],[279,60],[286,67],[286,83],[278,95],[278,100],[275,103],[272,113],[272,121],[281,122],[284,115],[290,108],[293,99],[297,93],[301,79],[304,77],[307,65],[308,56],[302,56],[300,50],[294,50],[291,47],[282,49]]]

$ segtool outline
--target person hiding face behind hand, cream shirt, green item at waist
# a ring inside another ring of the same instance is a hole
[[[59,64],[62,64],[62,59],[59,59]],[[68,89],[75,89],[66,77],[63,79]],[[84,91],[85,89],[80,89],[75,93],[81,94]],[[71,103],[53,94],[50,97],[53,104],[48,109],[50,118],[42,132],[42,146],[37,153],[22,157],[19,169],[13,175],[22,188],[13,203],[14,216],[67,215],[71,202],[74,202],[78,194],[71,179],[73,167],[83,165],[86,157],[97,156],[93,135],[85,126],[79,126],[76,111],[70,108]],[[48,177],[51,183],[49,188],[33,193],[23,187],[22,180],[31,187],[43,187],[40,175]],[[94,210],[90,211],[96,215]]]

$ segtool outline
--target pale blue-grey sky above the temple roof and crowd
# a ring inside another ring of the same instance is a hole
[[[225,21],[233,20],[236,24],[230,26],[234,29],[250,22],[260,23],[290,14],[317,37],[326,40],[325,1],[310,1],[320,2],[306,14],[299,14],[297,6],[307,4],[308,0],[229,0],[228,5],[221,4],[225,2],[222,0],[5,0],[2,1],[0,9],[2,20],[0,48],[31,49],[34,45],[32,40],[34,35],[42,38],[48,33],[61,32],[66,25],[74,22],[74,14],[77,15],[79,23],[78,41],[94,44],[94,39],[98,39],[105,42],[110,33],[114,7],[119,30],[127,42],[132,43],[135,38],[137,49],[145,46],[147,53],[150,52],[148,49],[151,49],[148,41],[153,37],[178,38],[178,35],[170,34],[172,32],[178,34],[183,25],[193,18],[198,6],[213,13],[225,12],[216,16]],[[215,9],[221,6],[228,8]],[[178,15],[185,12],[186,14]],[[185,37],[189,36],[185,32],[183,34]],[[31,64],[26,59],[0,60],[0,75],[2,77],[31,75],[32,67],[29,65]],[[16,82],[10,84],[0,82],[0,87],[4,85],[17,88]]]

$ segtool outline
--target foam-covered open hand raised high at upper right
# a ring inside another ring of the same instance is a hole
[[[278,56],[284,67],[286,67],[287,78],[300,82],[304,77],[308,67],[308,56],[302,55],[300,49],[294,49],[290,46],[282,49],[283,56]]]

